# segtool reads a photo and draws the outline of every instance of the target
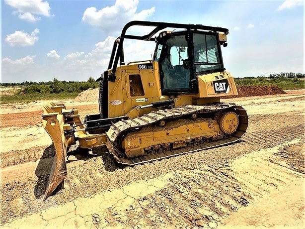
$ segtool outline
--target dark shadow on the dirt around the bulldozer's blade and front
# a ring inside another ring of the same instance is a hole
[[[49,175],[53,165],[53,159],[55,156],[55,149],[53,143],[46,147],[39,163],[35,169],[35,175],[37,176],[37,183],[34,188],[34,195],[36,199],[39,199],[41,196],[45,194],[47,189],[47,184],[49,180]],[[94,157],[102,157],[103,164],[105,166],[105,170],[107,172],[113,172],[118,169],[124,169],[127,167],[126,165],[118,164],[113,156],[108,153],[108,149],[106,146],[100,146],[93,148],[91,151],[88,149],[81,149],[79,147],[73,147],[67,152],[66,163],[73,163],[75,161],[86,161]],[[97,165],[102,166],[102,164]],[[68,171],[69,176],[69,171]],[[50,195],[55,195],[59,190],[64,188],[64,181],[54,190],[54,192]]]

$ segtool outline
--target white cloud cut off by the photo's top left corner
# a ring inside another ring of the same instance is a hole
[[[34,22],[41,18],[36,15],[51,16],[48,1],[43,0],[4,0],[4,2],[16,10],[13,14],[18,14],[22,20]]]

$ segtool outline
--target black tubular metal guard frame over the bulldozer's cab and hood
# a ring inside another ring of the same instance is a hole
[[[129,35],[126,34],[126,31],[131,26],[154,26],[155,28],[148,34],[143,36],[137,35]],[[193,30],[206,30],[206,31],[213,31],[213,32],[224,32],[225,34],[229,33],[229,29],[222,28],[222,27],[214,27],[214,26],[206,26],[201,24],[180,24],[180,23],[167,23],[167,22],[155,22],[155,21],[130,21],[128,22],[124,28],[122,29],[121,36],[119,36],[112,48],[108,70],[112,69],[111,73],[108,76],[108,81],[114,82],[115,81],[115,72],[118,65],[118,61],[120,59],[120,65],[124,65],[124,50],[123,50],[123,42],[124,39],[134,39],[134,40],[147,40],[147,41],[154,41],[153,35],[157,32],[164,30],[165,28],[181,28],[181,29],[193,29]]]

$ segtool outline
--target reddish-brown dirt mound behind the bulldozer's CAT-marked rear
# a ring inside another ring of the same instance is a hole
[[[238,96],[224,97],[226,99],[248,96],[268,96],[286,94],[278,86],[237,86]]]

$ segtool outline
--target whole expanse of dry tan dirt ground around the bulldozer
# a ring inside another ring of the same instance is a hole
[[[40,123],[1,126],[0,226],[304,228],[304,94],[227,100],[244,105],[249,127],[224,147],[134,167],[105,148],[75,150],[64,189],[45,202],[49,136]]]

